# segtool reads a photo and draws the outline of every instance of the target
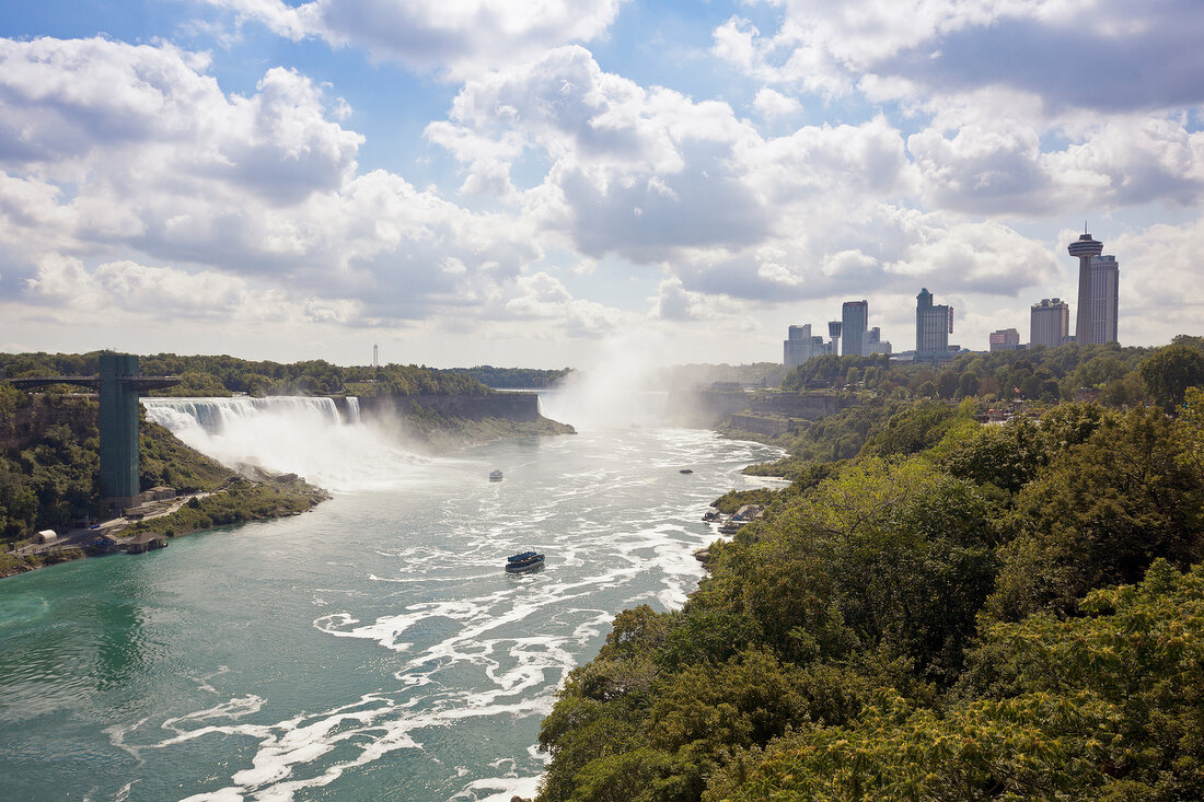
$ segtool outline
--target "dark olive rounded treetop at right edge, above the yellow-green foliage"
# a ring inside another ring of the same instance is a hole
[[[1204,559],[1204,474],[1180,426],[1155,409],[1112,413],[1017,495],[1013,542],[986,612],[1074,612],[1092,588],[1137,582],[1158,558]]]

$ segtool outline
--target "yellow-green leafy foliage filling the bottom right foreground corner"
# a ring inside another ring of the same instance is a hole
[[[703,798],[1204,797],[1204,570],[1156,562],[1081,609],[990,627],[944,713],[878,691],[855,724],[737,753]]]

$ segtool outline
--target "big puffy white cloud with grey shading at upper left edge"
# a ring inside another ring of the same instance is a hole
[[[275,67],[253,96],[226,96],[199,71],[207,63],[170,45],[0,40],[0,165],[130,191],[171,160],[194,185],[234,183],[270,202],[354,172],[364,137],[326,118],[312,81]]]

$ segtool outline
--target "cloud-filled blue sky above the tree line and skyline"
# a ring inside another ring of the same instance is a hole
[[[780,361],[1076,307],[1204,334],[1199,0],[39,0],[0,11],[0,352]]]

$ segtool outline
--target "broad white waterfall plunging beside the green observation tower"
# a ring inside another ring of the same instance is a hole
[[[344,423],[331,399],[142,399],[147,418],[231,467],[293,472],[331,490],[396,484],[423,461],[360,420],[347,400]]]

